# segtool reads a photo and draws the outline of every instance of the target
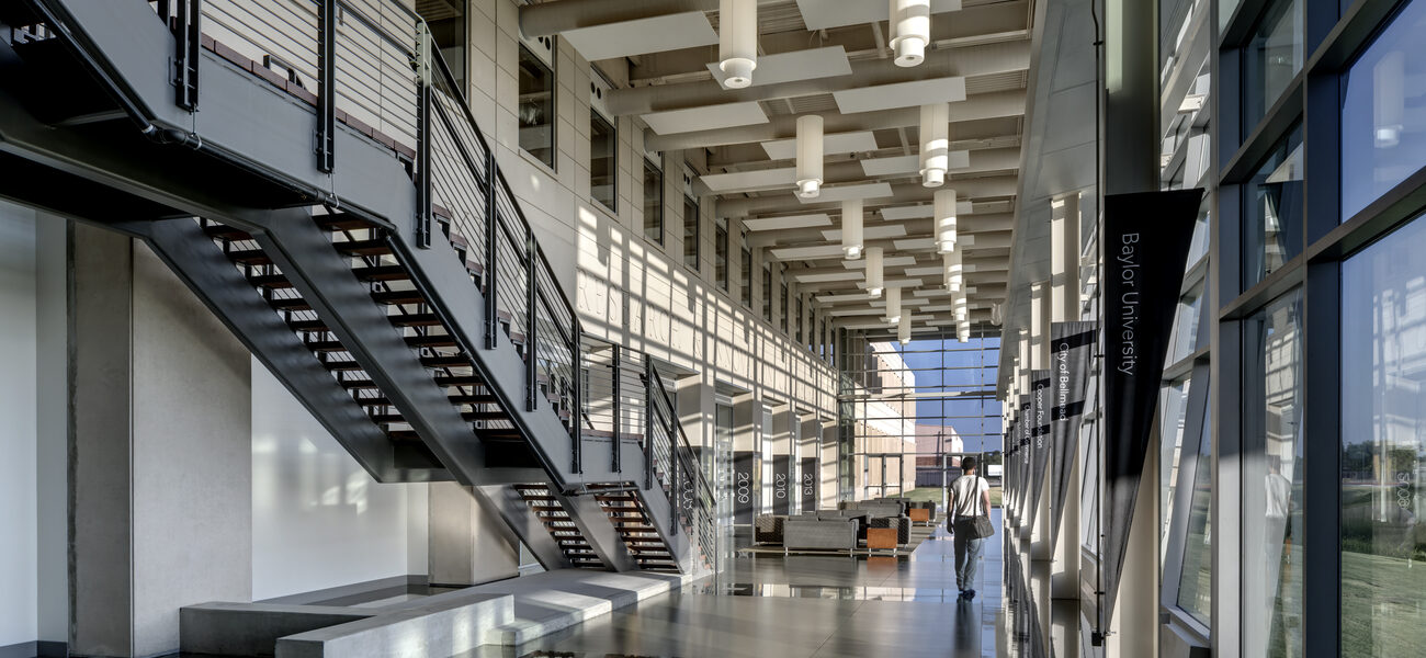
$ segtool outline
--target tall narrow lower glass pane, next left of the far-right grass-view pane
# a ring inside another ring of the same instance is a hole
[[[1243,655],[1302,655],[1301,322],[1298,289],[1243,323]]]

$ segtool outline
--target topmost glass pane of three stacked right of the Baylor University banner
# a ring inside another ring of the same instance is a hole
[[[1243,132],[1251,132],[1302,70],[1303,0],[1276,0],[1243,51]]]

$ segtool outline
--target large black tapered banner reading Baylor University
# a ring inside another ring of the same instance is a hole
[[[1104,198],[1104,592],[1114,614],[1202,189]]]

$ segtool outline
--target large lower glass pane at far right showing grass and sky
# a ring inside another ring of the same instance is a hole
[[[1342,655],[1426,647],[1426,222],[1342,265]]]

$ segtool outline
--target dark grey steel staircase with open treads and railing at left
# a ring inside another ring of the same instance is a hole
[[[378,481],[473,486],[548,568],[716,568],[660,375],[583,335],[414,10],[26,0],[0,41],[0,194],[144,239]]]

